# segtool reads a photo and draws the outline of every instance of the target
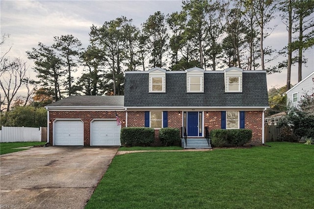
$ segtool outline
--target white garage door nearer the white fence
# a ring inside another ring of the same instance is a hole
[[[54,145],[83,146],[83,122],[80,120],[60,120],[54,123]]]

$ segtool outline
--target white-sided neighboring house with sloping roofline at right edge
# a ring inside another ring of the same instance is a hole
[[[287,105],[298,106],[302,97],[306,94],[314,93],[314,71],[310,73],[306,78],[295,84],[290,88],[287,94]]]

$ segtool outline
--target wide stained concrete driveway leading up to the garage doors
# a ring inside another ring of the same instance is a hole
[[[0,156],[0,208],[82,209],[117,147],[37,147]]]

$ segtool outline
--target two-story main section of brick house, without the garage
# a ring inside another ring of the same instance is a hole
[[[265,71],[126,72],[124,107],[127,127],[179,128],[184,148],[208,148],[208,131],[250,129],[250,144],[264,143],[268,107]]]

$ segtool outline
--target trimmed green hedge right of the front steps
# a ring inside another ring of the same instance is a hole
[[[226,145],[243,146],[252,139],[252,130],[250,129],[228,129],[210,131],[211,145],[222,147]]]

